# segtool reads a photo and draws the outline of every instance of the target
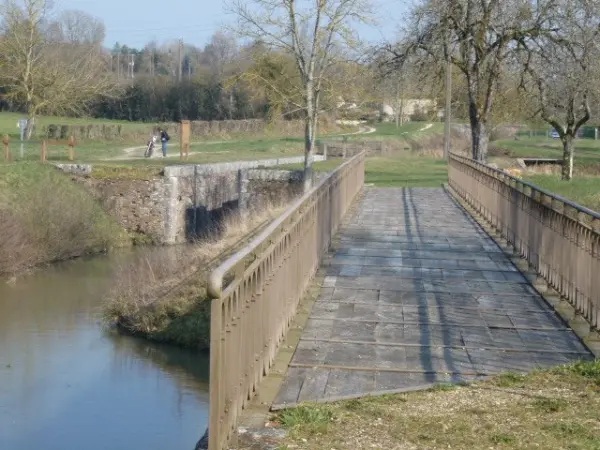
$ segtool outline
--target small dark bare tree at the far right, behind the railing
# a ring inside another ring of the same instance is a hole
[[[575,139],[591,118],[590,100],[600,93],[600,2],[564,1],[556,8],[551,36],[523,41],[521,88],[534,98],[537,113],[563,145],[562,179],[573,177]]]

